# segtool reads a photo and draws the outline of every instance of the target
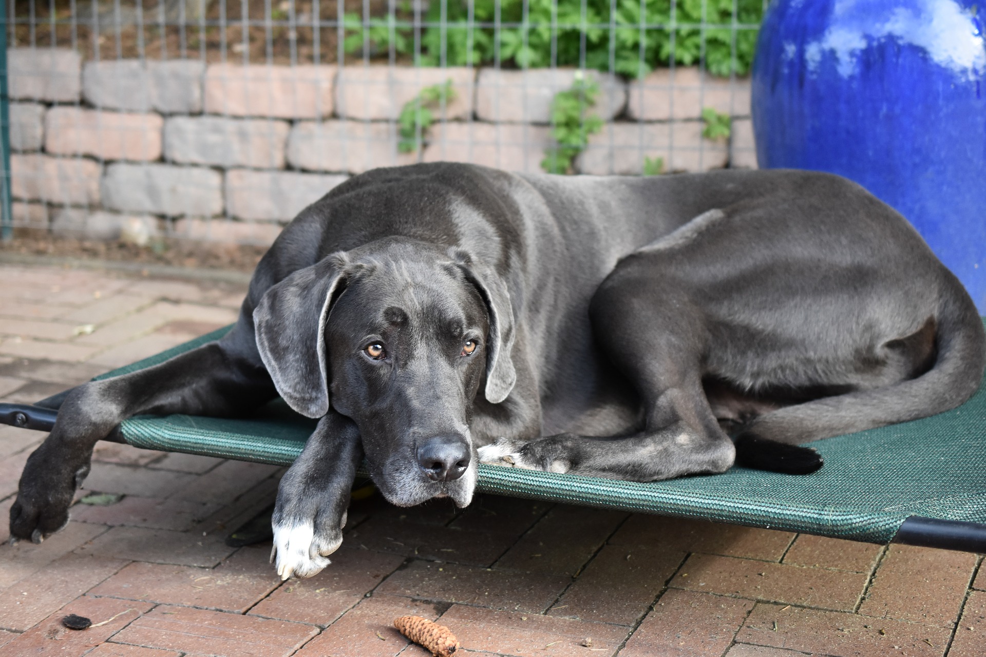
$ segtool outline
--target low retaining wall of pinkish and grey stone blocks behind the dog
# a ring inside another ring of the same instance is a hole
[[[81,61],[67,49],[8,50],[15,225],[112,238],[120,227],[271,241],[302,208],[376,166],[451,160],[540,170],[550,103],[575,71],[240,66],[197,61]],[[639,174],[755,166],[748,82],[698,69],[599,82],[605,124],[578,172]],[[422,88],[455,98],[420,153],[397,150],[395,119]],[[703,107],[733,136],[701,135]]]

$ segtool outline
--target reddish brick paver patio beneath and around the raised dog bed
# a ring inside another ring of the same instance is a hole
[[[232,322],[245,286],[0,266],[0,401],[34,402]],[[91,326],[89,326],[91,325]],[[90,332],[90,329],[92,331]],[[0,427],[0,537],[43,437]],[[986,655],[986,568],[880,546],[497,496],[355,501],[316,577],[225,537],[281,469],[101,443],[72,520],[0,548],[0,654],[425,655],[440,619],[476,655]],[[103,623],[85,631],[59,620]]]

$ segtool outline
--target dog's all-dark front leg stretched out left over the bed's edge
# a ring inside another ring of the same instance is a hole
[[[89,474],[93,447],[123,420],[140,414],[235,416],[276,396],[239,328],[169,361],[72,390],[24,467],[10,509],[11,540],[40,543],[65,526],[72,497]]]

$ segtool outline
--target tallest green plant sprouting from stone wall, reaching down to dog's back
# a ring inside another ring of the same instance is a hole
[[[602,128],[602,119],[588,111],[599,97],[599,85],[577,71],[572,86],[551,99],[551,137],[555,144],[544,152],[541,168],[548,173],[569,173],[572,161],[589,145],[589,136]]]

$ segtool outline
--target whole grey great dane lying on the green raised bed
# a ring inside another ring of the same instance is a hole
[[[800,443],[957,406],[984,361],[955,277],[833,175],[377,169],[281,233],[225,338],[74,389],[11,534],[61,528],[95,443],[136,414],[241,416],[280,395],[319,419],[277,496],[287,578],[338,548],[364,457],[399,505],[468,504],[479,461],[809,473]]]

